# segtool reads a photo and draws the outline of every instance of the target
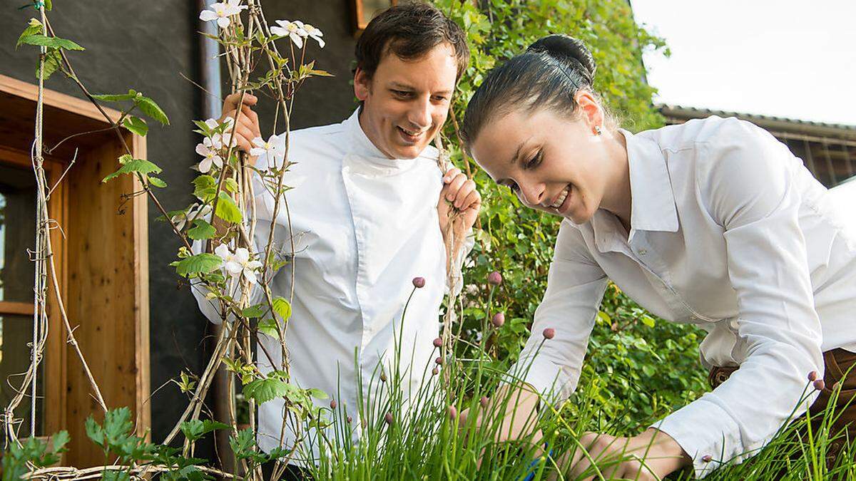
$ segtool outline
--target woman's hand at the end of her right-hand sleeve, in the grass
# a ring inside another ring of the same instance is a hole
[[[573,457],[568,460],[572,453]],[[690,457],[672,436],[654,428],[633,437],[587,432],[580,437],[578,448],[564,454],[558,465],[562,470],[568,470],[568,478],[576,479],[591,468],[591,460],[604,478],[641,481],[662,479],[691,463]],[[586,477],[586,481],[597,478],[591,470],[588,473],[591,476]],[[555,479],[555,475],[550,479]]]

